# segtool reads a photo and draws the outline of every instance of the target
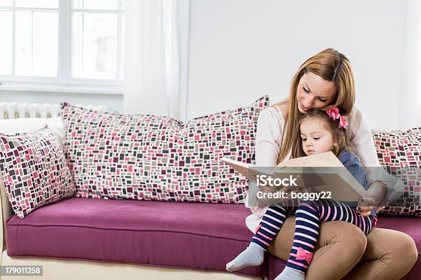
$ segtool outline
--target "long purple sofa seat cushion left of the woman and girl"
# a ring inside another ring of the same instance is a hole
[[[9,218],[8,255],[226,271],[252,237],[249,214],[233,204],[69,198]],[[263,277],[266,268],[238,273]]]

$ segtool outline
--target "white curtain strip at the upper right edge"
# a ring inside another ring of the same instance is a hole
[[[421,126],[421,1],[405,2],[399,128]],[[387,59],[387,58],[385,58]]]

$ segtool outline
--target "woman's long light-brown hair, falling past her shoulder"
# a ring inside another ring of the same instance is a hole
[[[290,85],[290,94],[288,100],[278,102],[273,106],[285,104],[287,112],[285,114],[285,125],[283,126],[282,145],[279,151],[278,163],[281,163],[292,150],[294,139],[294,128],[301,118],[301,112],[298,110],[298,103],[296,101],[296,91],[299,86],[301,77],[307,73],[312,72],[319,75],[324,80],[334,82],[336,84],[336,98],[323,110],[329,110],[334,106],[343,113],[349,115],[355,103],[355,86],[354,74],[352,73],[351,63],[348,58],[334,49],[324,49],[318,54],[305,60],[305,62],[296,71],[292,77]]]

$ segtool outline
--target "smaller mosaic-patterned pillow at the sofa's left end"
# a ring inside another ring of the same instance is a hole
[[[21,219],[76,191],[63,149],[47,126],[30,133],[0,133],[0,174],[12,209]]]

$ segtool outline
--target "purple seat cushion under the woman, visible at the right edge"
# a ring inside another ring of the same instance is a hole
[[[405,275],[402,280],[418,280],[421,279],[421,219],[404,216],[379,215],[378,225],[382,229],[393,229],[410,235],[418,249],[418,260],[415,262],[412,270]],[[285,261],[270,255],[268,280],[272,280],[285,268]]]

